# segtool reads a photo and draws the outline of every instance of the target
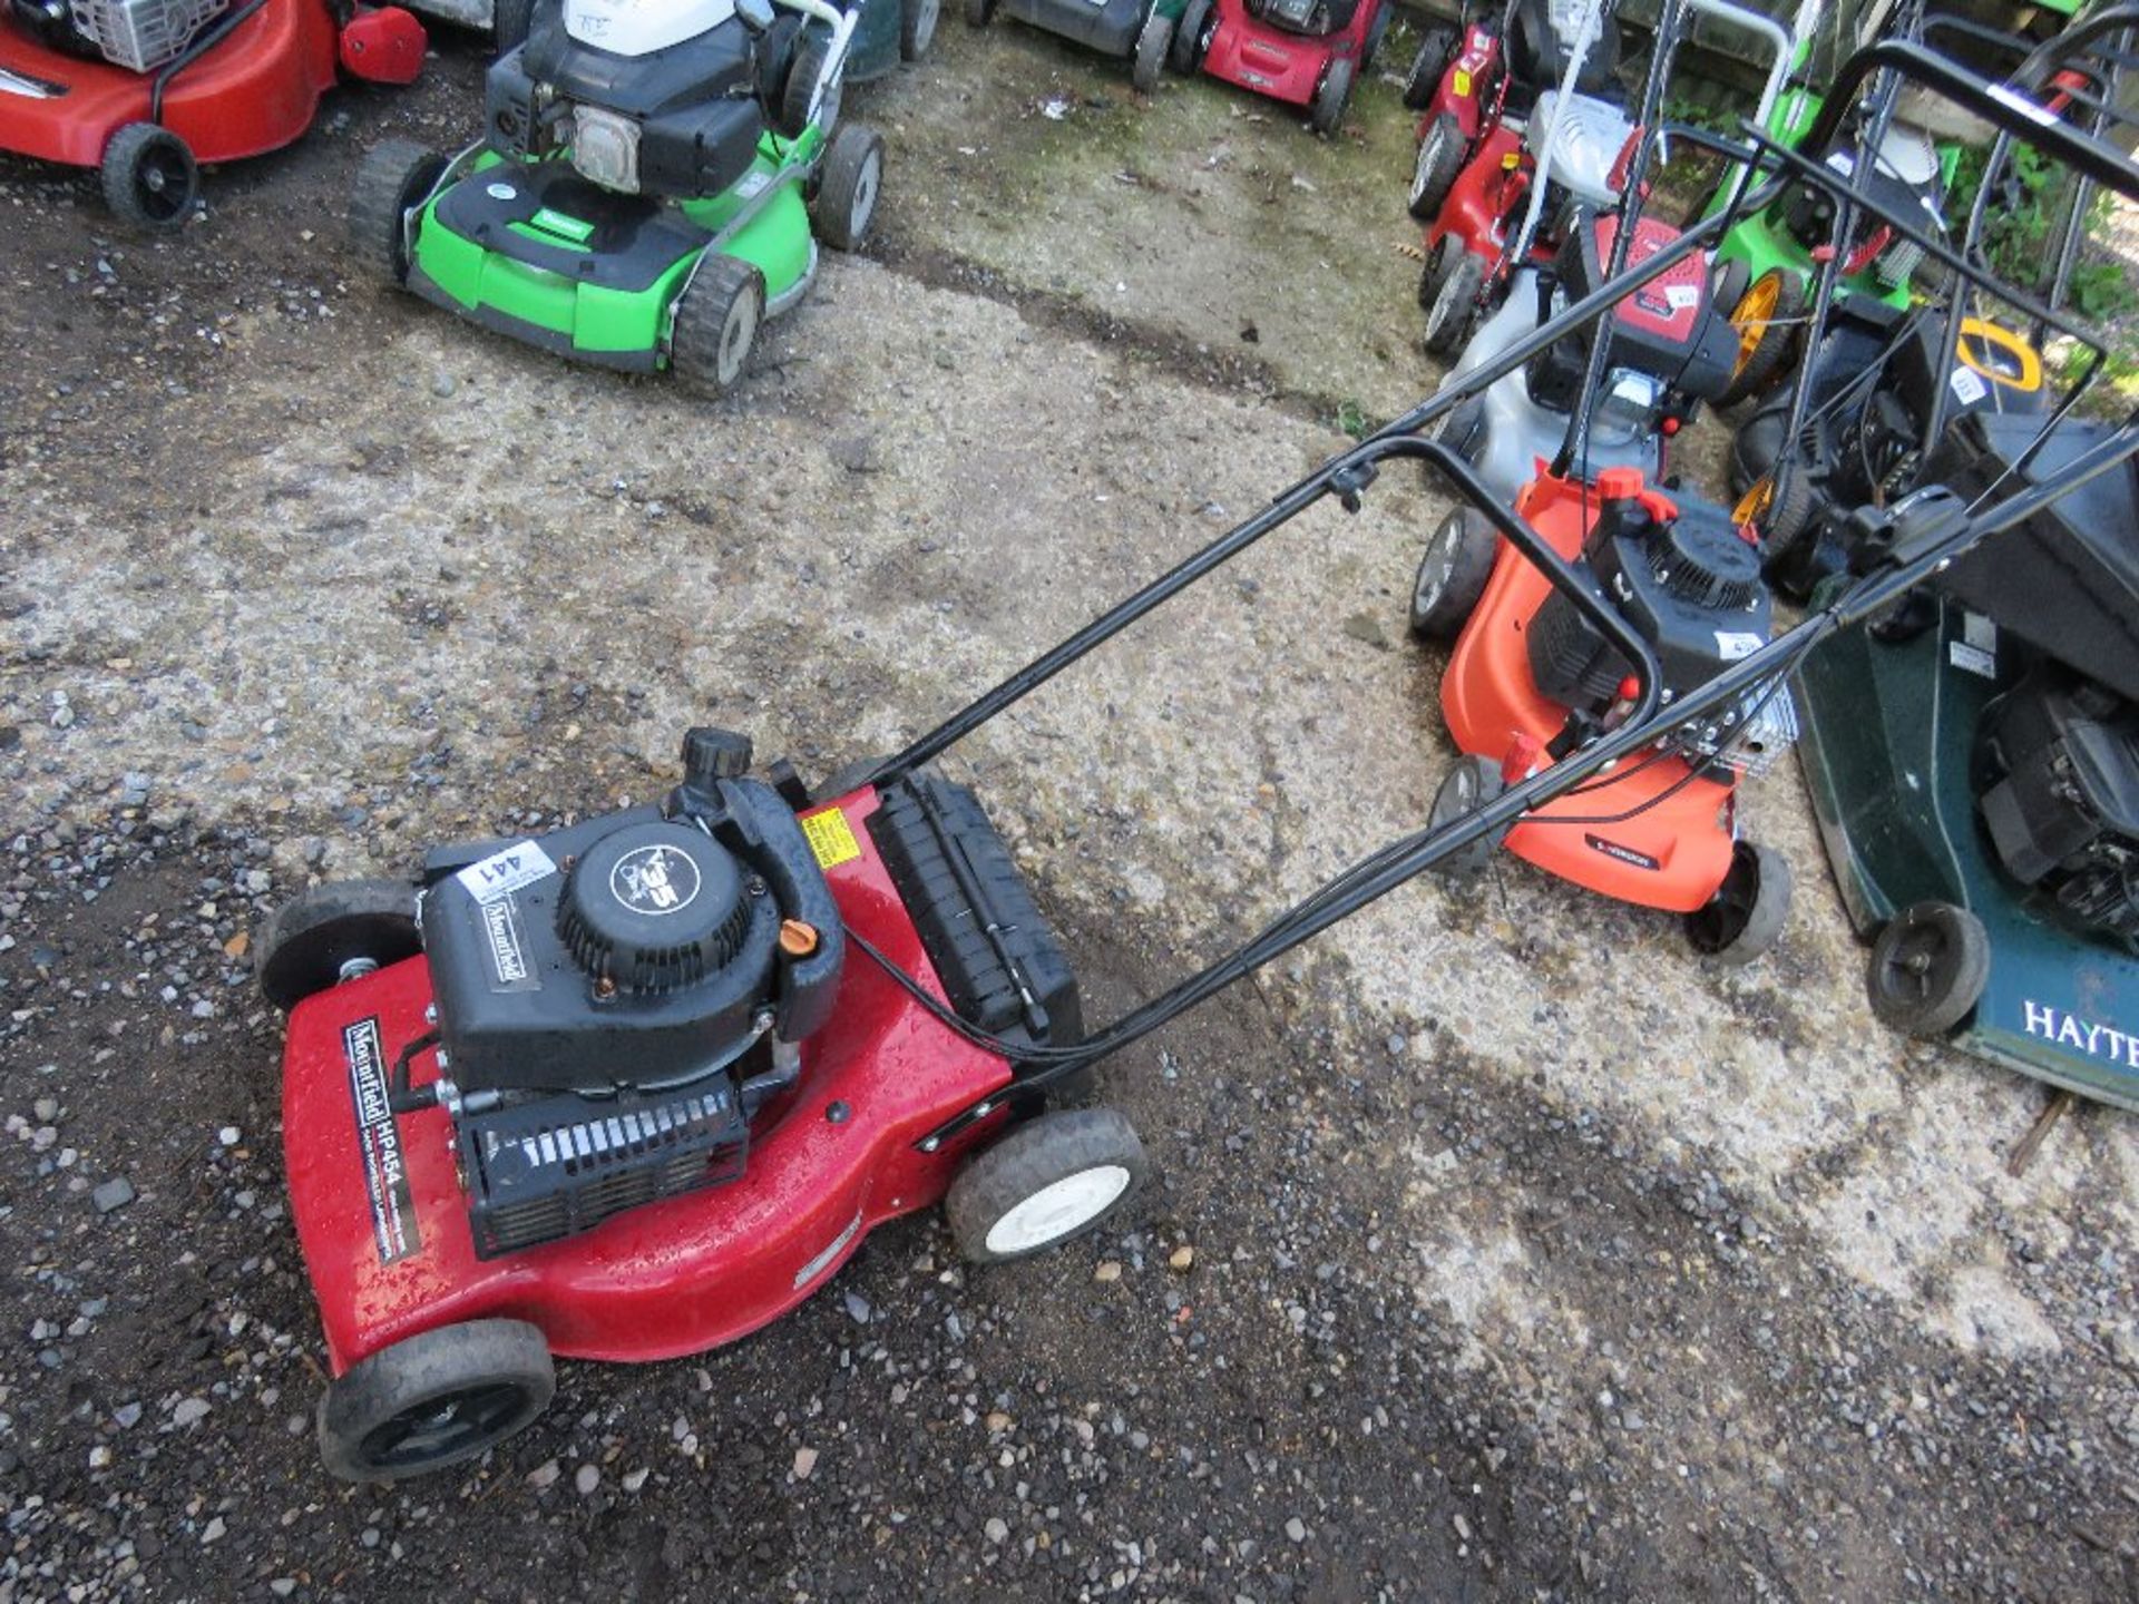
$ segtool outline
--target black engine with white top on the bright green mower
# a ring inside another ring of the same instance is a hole
[[[490,145],[501,156],[569,152],[620,195],[719,195],[757,158],[768,122],[798,137],[830,38],[764,0],[565,0],[541,6],[526,43],[486,77]],[[789,107],[789,101],[800,101]],[[794,115],[787,115],[787,111]]]

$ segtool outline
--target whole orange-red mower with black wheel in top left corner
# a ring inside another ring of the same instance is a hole
[[[336,71],[409,83],[424,24],[340,0],[0,0],[0,150],[94,167],[141,229],[193,214],[201,163],[312,126]]]

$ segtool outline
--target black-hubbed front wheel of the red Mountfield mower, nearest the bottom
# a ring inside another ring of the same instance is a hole
[[[319,1456],[349,1482],[424,1476],[505,1441],[554,1392],[550,1345],[524,1320],[438,1326],[327,1384]]]

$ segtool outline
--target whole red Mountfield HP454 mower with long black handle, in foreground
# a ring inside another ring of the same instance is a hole
[[[2139,9],[2105,15],[2130,26]],[[1889,64],[2139,197],[2113,143],[1906,49]],[[1709,242],[1696,229],[1600,284],[1478,383]],[[753,778],[744,740],[697,729],[657,806],[443,849],[411,881],[327,885],[280,911],[255,954],[265,994],[289,1007],[284,1163],[334,1373],[319,1407],[329,1467],[389,1480],[471,1459],[541,1412],[556,1354],[652,1360],[732,1341],[826,1285],[873,1228],[939,1198],[980,1262],[1119,1217],[1147,1168],[1136,1133],[1099,1108],[1050,1106],[1108,1054],[1476,843],[1540,828],[1626,843],[1630,811],[1673,804],[1641,776],[1683,764],[1681,791],[1711,781],[1739,744],[1726,731],[1807,650],[2139,453],[2135,417],[2064,462],[2056,488],[2009,483],[1904,530],[1784,637],[1763,642],[1758,610],[1741,610],[1728,622],[1745,652],[1707,652],[1683,610],[1726,618],[1737,533],[1613,481],[1609,533],[1568,562],[1427,438],[1459,400],[1444,391],[1333,458],[896,757],[809,791],[783,764]],[[1356,509],[1397,458],[1437,464],[1538,567],[1572,614],[1559,639],[1574,650],[1555,661],[1583,676],[1596,633],[1624,678],[1527,766],[1502,766],[1512,781],[1491,800],[1437,808],[1228,956],[1084,1031],[1001,836],[930,764],[1305,509]],[[1549,513],[1542,492],[1532,509]],[[1651,567],[1656,586],[1636,580]],[[1668,614],[1664,629],[1615,599],[1621,575]],[[1698,597],[1694,575],[1707,575]],[[1666,654],[1718,661],[1681,674]],[[1733,922],[1715,911],[1718,930]]]

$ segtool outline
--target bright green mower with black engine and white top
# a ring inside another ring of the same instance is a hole
[[[860,11],[779,4],[545,0],[490,68],[486,143],[370,154],[355,248],[543,351],[727,391],[809,293],[817,235],[858,246],[883,182],[883,141],[838,126]]]

